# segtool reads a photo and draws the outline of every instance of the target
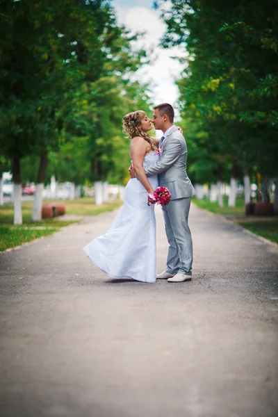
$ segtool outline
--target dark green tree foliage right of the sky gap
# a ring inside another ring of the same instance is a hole
[[[163,3],[156,2],[167,24],[163,45],[185,54],[177,84],[190,176],[227,180],[231,167],[275,176],[276,2],[172,0],[167,10]]]

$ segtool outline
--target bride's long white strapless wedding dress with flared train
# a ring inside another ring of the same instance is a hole
[[[156,152],[147,154],[143,165],[155,163]],[[158,176],[148,177],[154,190]],[[147,205],[147,191],[137,178],[124,190],[124,205],[106,234],[92,240],[84,252],[97,268],[113,278],[129,277],[156,281],[156,219],[154,204]]]

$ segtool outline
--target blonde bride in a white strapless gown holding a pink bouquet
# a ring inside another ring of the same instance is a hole
[[[158,176],[147,177],[143,165],[158,160],[158,138],[147,133],[151,120],[144,111],[124,116],[124,132],[131,139],[130,156],[136,172],[124,190],[124,205],[106,234],[84,248],[92,263],[110,277],[156,281],[156,220],[154,190]]]

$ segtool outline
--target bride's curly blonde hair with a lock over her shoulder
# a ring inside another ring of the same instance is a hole
[[[141,121],[146,117],[145,111],[138,110],[133,111],[132,113],[129,113],[124,116],[122,120],[122,128],[124,133],[126,133],[127,136],[129,136],[130,139],[135,138],[136,136],[140,136],[141,138],[145,139],[151,148],[152,151],[155,151],[157,149],[156,143],[152,139],[151,136],[149,136],[148,133],[143,132],[142,129],[140,129]]]

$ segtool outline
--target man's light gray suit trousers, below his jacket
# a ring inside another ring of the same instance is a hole
[[[192,275],[193,244],[188,227],[191,197],[170,200],[162,206],[169,243],[166,272]]]

